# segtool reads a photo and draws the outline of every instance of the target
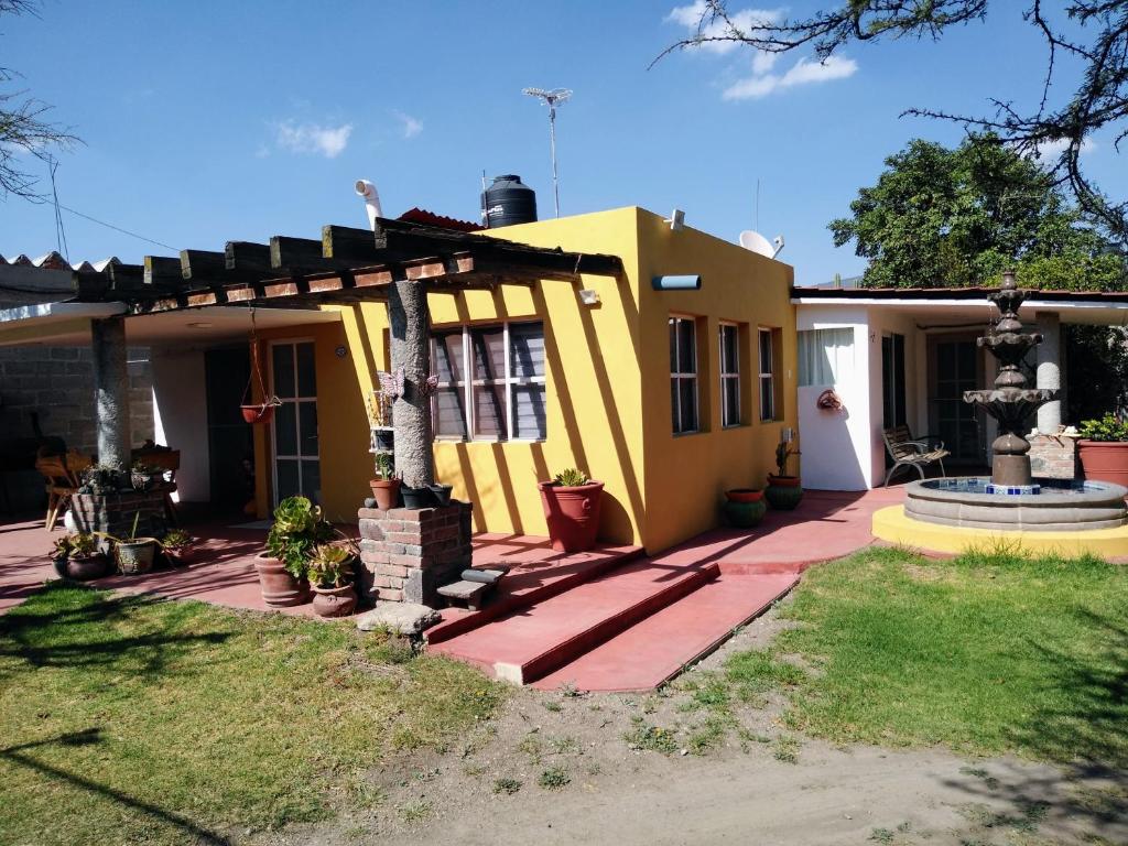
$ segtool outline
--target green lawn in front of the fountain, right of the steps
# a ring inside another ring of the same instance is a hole
[[[834,741],[1128,766],[1123,566],[872,549],[808,571],[783,614],[796,627],[696,685],[700,707],[782,689],[787,725]]]

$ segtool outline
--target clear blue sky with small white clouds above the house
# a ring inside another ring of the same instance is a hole
[[[904,109],[981,112],[990,95],[1022,105],[1040,92],[1043,49],[1010,0],[938,44],[852,45],[829,68],[735,47],[647,70],[687,32],[678,6],[45,0],[39,18],[0,18],[0,58],[85,141],[60,157],[60,202],[177,249],[363,226],[361,177],[386,213],[475,219],[482,170],[517,173],[547,217],[547,114],[520,91],[567,87],[562,213],[677,206],[688,224],[735,239],[755,226],[759,179],[759,229],[786,237],[781,258],[800,283],[861,271],[827,223],[885,156],[914,136],[959,140],[958,127]],[[1086,160],[1105,190],[1128,191],[1110,141],[1094,139]],[[64,222],[76,261],[171,254]],[[0,253],[54,247],[51,206],[0,201]]]

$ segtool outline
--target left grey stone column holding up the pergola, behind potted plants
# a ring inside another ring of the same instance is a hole
[[[94,411],[98,462],[130,467],[130,376],[125,355],[125,318],[90,321],[94,347]]]

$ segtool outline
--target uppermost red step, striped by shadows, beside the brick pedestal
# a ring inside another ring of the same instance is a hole
[[[475,553],[478,556],[477,553]],[[589,553],[557,554],[546,559],[519,562],[509,566],[509,572],[497,582],[484,607],[477,610],[444,608],[442,623],[429,628],[424,637],[429,644],[442,643],[452,637],[472,632],[500,617],[536,602],[572,590],[592,579],[611,572],[643,555],[641,546],[603,546]],[[475,565],[492,569],[495,564],[490,555],[477,557]]]

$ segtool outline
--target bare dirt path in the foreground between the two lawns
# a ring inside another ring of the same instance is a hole
[[[763,645],[774,614],[717,655]],[[365,775],[334,821],[252,838],[297,844],[1128,844],[1128,779],[951,752],[839,749],[790,734],[779,702],[720,733],[678,690],[519,690],[444,755]],[[664,732],[664,733],[663,733]],[[666,751],[655,751],[654,748]]]

